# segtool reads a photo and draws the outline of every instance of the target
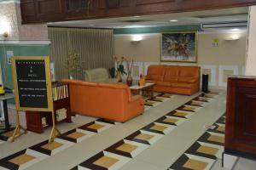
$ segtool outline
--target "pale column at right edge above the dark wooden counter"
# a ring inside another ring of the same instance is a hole
[[[246,75],[256,76],[256,6],[250,7],[248,21]]]

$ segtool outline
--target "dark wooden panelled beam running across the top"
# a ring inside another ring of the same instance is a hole
[[[22,23],[180,13],[255,5],[256,0],[20,0]]]

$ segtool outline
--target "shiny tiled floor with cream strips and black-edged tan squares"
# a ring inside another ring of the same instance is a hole
[[[96,119],[63,133],[51,144],[45,140],[15,154],[1,156],[0,169],[212,167],[223,150],[224,94],[173,98],[161,95],[147,101],[159,104],[151,105],[154,107],[129,122]],[[214,128],[204,127],[212,123]]]

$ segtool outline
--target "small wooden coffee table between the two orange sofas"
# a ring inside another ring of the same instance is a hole
[[[130,89],[131,94],[140,94],[142,92],[143,96],[153,97],[153,87],[154,83],[145,82],[144,86],[133,85]]]

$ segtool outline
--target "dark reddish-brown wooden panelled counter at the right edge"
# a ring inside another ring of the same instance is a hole
[[[256,158],[256,77],[230,77],[225,152]]]

